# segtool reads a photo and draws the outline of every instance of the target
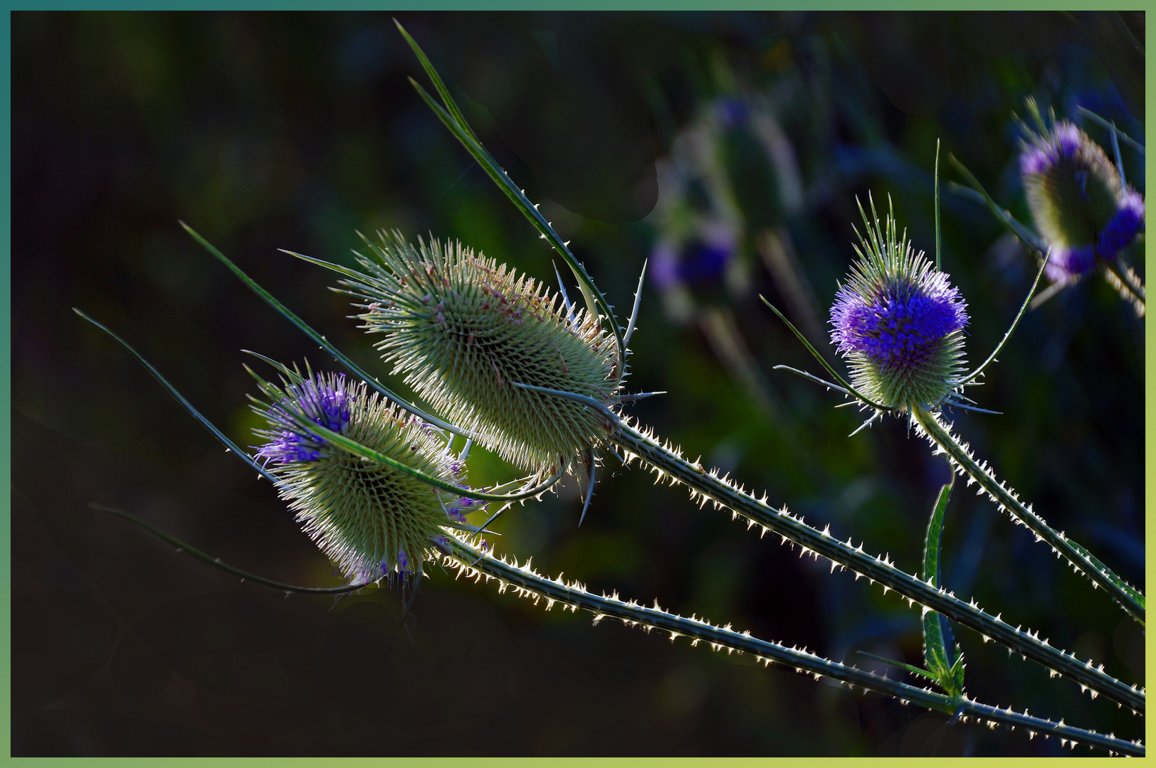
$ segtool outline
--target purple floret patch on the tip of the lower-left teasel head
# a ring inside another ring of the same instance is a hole
[[[344,376],[329,381],[313,376],[301,385],[287,387],[286,392],[289,398],[268,411],[269,419],[284,428],[258,448],[257,455],[281,464],[317,461],[321,457],[325,440],[297,426],[289,411],[304,413],[313,423],[333,432],[342,432],[349,424],[349,395],[344,389]]]

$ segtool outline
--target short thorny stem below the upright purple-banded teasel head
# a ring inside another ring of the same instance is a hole
[[[1062,554],[1076,572],[1085,574],[1094,584],[1103,587],[1117,603],[1124,606],[1128,613],[1141,622],[1144,620],[1144,596],[1117,576],[1103,562],[1092,557],[1088,550],[1080,546],[1062,532],[1053,530],[1044,520],[1024,506],[1015,493],[1005,487],[995,479],[995,475],[987,464],[978,463],[968,449],[968,446],[951,434],[950,430],[939,420],[931,411],[916,408],[911,413],[922,432],[946,453],[951,462],[965,472],[971,479],[987,491],[1000,506],[1007,509],[1011,519],[1027,525],[1037,538],[1046,542],[1058,554]]]

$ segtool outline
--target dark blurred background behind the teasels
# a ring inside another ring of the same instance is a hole
[[[1143,13],[406,13],[479,135],[542,202],[620,312],[650,276],[630,409],[694,458],[914,572],[943,460],[776,364],[816,370],[765,294],[833,359],[825,318],[855,196],[890,197],[933,249],[932,171],[958,157],[1028,221],[1013,112],[1035,96],[1143,136]],[[90,501],[292,583],[333,567],[274,491],[123,349],[123,334],[242,445],[251,349],[332,364],[201,251],[187,222],[351,357],[386,373],[329,274],[355,230],[460,239],[553,282],[551,254],[414,92],[390,14],[15,13],[13,683],[18,755],[1050,755],[1054,740],[944,725],[742,656],[544,612],[433,568],[334,603],[240,583]],[[1142,157],[1124,149],[1143,189]],[[946,186],[943,269],[983,359],[1035,261]],[[1142,266],[1142,246],[1131,254]],[[1143,583],[1143,321],[1099,278],[1028,314],[949,416],[978,455]],[[394,382],[400,386],[400,382]],[[919,612],[699,510],[610,458],[581,528],[571,483],[517,508],[499,551],[594,590],[697,613],[879,671],[921,664]],[[473,484],[510,478],[475,452]],[[961,486],[946,586],[1143,681],[1143,634]],[[968,692],[1142,736],[1142,719],[959,629]],[[1064,751],[1065,754],[1069,752]],[[1085,753],[1083,747],[1075,754]]]

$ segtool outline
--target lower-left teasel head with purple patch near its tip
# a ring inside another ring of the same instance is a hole
[[[291,415],[461,485],[462,464],[445,452],[445,438],[343,374],[295,376],[264,389],[273,403],[254,407],[268,423],[255,431],[266,441],[257,455],[305,532],[353,583],[421,573],[442,527],[461,522],[472,501],[333,446]]]

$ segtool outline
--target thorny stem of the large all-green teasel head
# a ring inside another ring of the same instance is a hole
[[[1129,687],[1106,674],[1102,665],[1094,666],[1090,661],[1081,662],[1074,654],[1047,644],[1038,634],[1002,621],[999,617],[981,611],[975,602],[965,603],[943,588],[932,587],[918,577],[899,571],[888,558],[873,557],[864,552],[862,545],[853,547],[851,539],[840,542],[829,532],[829,528],[820,531],[794,517],[786,509],[775,509],[765,501],[731,485],[725,478],[707,472],[702,464],[691,464],[681,455],[664,446],[649,434],[620,422],[618,427],[610,433],[612,443],[650,464],[659,476],[668,475],[672,480],[683,483],[707,500],[720,507],[731,509],[735,516],[747,519],[750,525],[762,525],[779,535],[784,542],[791,540],[815,552],[832,562],[831,568],[840,565],[851,568],[859,575],[883,584],[884,589],[894,589],[912,604],[919,603],[933,611],[979,632],[1007,646],[1025,658],[1039,662],[1050,670],[1075,680],[1092,694],[1104,694],[1113,701],[1131,707],[1138,713],[1144,711],[1144,693],[1134,686]],[[765,531],[764,531],[765,532]],[[858,577],[858,576],[857,576]]]

